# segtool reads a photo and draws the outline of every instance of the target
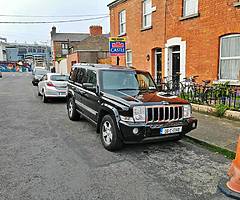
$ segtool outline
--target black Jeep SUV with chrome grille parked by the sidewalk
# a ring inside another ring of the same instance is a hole
[[[87,118],[108,150],[123,143],[179,140],[197,127],[190,104],[159,92],[148,72],[75,64],[68,83],[68,116]]]

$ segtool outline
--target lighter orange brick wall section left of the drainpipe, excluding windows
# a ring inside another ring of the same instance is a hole
[[[111,36],[116,37],[119,34],[118,15],[122,10],[126,10],[126,39],[127,49],[132,50],[133,66],[138,69],[144,69],[152,72],[153,57],[152,49],[163,47],[164,44],[164,2],[153,0],[153,6],[158,7],[158,11],[153,13],[152,29],[142,31],[142,4],[139,0],[126,1],[114,9],[110,10]],[[150,60],[147,61],[147,55]],[[116,64],[116,58],[112,58],[112,63]],[[120,57],[120,65],[126,65],[124,57]]]

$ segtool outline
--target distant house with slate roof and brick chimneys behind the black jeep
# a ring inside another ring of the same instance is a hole
[[[52,53],[56,72],[70,73],[75,63],[110,63],[109,34],[102,26],[89,27],[89,33],[56,33],[51,31]]]

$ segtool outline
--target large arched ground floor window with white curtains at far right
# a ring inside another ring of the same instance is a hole
[[[219,78],[240,80],[240,34],[221,37]]]

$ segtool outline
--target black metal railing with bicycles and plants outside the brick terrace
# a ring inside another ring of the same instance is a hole
[[[177,95],[191,103],[216,106],[225,105],[227,109],[240,111],[240,86],[216,84],[212,86],[182,83],[171,87],[162,86],[163,90]]]

